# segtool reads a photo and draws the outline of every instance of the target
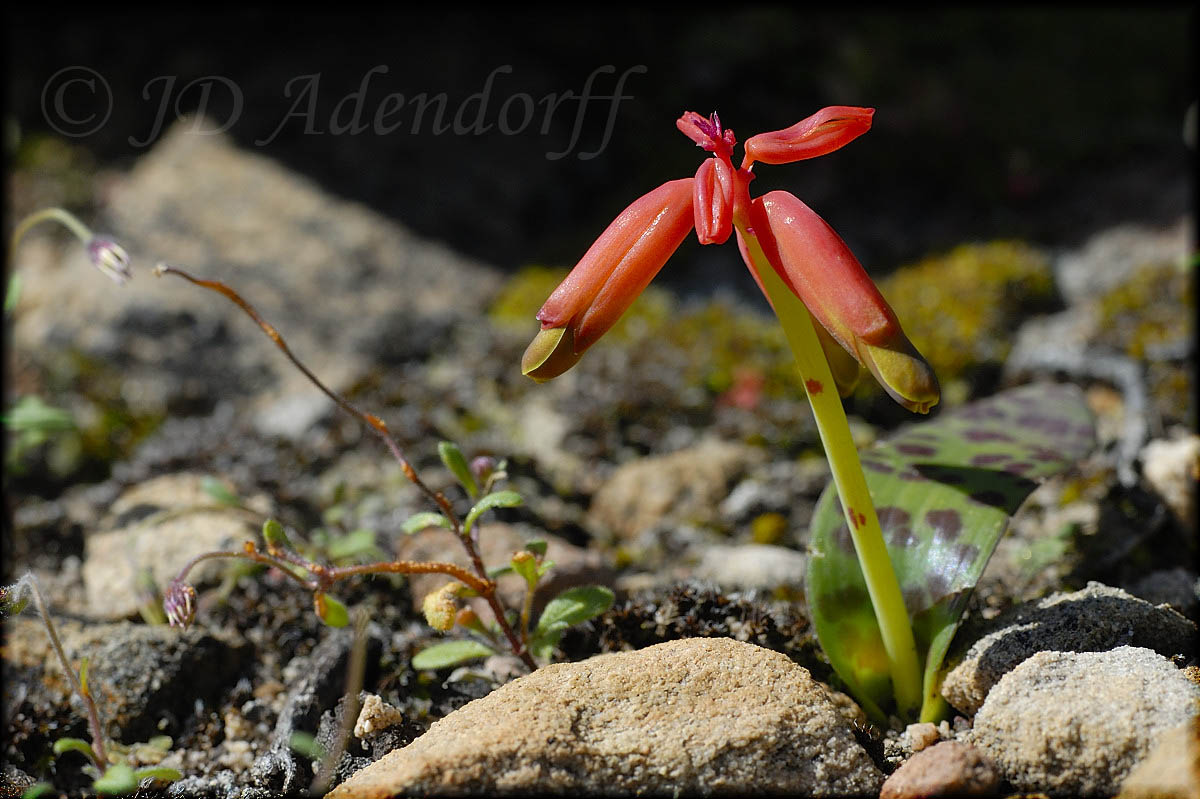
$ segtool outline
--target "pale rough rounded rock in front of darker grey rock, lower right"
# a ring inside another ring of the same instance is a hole
[[[1019,791],[1112,795],[1198,709],[1200,687],[1150,649],[1042,651],[991,690],[972,739]]]

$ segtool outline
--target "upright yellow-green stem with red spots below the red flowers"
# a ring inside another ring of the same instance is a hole
[[[875,608],[875,619],[880,625],[880,635],[892,672],[892,691],[896,708],[901,717],[911,717],[922,704],[922,674],[917,660],[917,643],[900,593],[900,583],[892,567],[887,546],[883,543],[883,531],[866,487],[866,477],[863,476],[858,450],[854,447],[850,425],[846,422],[846,411],[841,407],[838,386],[829,372],[829,362],[821,349],[821,342],[812,328],[812,318],[804,302],[775,274],[754,234],[740,227],[739,232],[800,370],[821,443],[824,445],[826,457],[833,470],[842,512],[846,515],[846,525],[854,541],[854,552],[858,554],[871,606]]]

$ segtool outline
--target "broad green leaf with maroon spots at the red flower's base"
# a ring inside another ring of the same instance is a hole
[[[924,660],[923,719],[940,713],[942,660],[1009,517],[1040,480],[1094,444],[1082,392],[1034,384],[908,426],[862,453]],[[884,717],[888,659],[832,482],[810,525],[808,602],[834,671],[868,713]]]

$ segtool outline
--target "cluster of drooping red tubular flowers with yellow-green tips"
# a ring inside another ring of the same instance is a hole
[[[578,362],[692,226],[701,244],[722,244],[736,227],[758,288],[762,280],[743,235],[760,241],[784,283],[821,323],[817,336],[842,396],[858,380],[862,364],[896,402],[928,413],[940,397],[937,379],[841,238],[786,192],[750,202],[755,161],[790,163],[826,155],[870,130],[874,114],[872,108],[830,106],[788,128],[754,136],[745,143],[742,168],[734,170],[733,131],[724,128],[715,113],[684,113],[676,126],[713,156],[695,179],[664,184],[608,226],[538,313],[541,332],[521,360],[522,372],[548,380]]]

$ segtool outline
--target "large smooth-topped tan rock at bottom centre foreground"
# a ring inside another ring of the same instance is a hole
[[[329,797],[846,795],[874,794],[882,781],[806,669],[752,644],[689,638],[538,669]]]

